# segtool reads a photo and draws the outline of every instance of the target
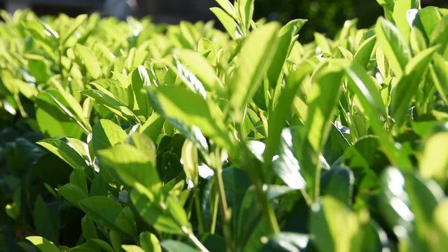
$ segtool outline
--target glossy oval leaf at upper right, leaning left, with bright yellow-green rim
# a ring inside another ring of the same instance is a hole
[[[391,22],[379,18],[375,27],[377,40],[384,51],[392,70],[396,76],[402,76],[409,59],[411,50],[407,46],[405,39]]]

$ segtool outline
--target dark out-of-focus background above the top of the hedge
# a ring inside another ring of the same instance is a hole
[[[421,4],[448,8],[447,0],[421,0]],[[155,22],[170,24],[212,20],[214,15],[209,8],[213,6],[217,6],[214,0],[0,0],[0,8],[9,12],[30,8],[38,15],[76,16],[97,11],[120,19],[151,15]],[[348,19],[358,18],[358,28],[370,27],[382,14],[376,0],[255,0],[255,19],[283,23],[294,18],[309,20],[300,32],[303,42],[310,41],[314,31],[334,36]],[[219,27],[218,22],[216,25]]]

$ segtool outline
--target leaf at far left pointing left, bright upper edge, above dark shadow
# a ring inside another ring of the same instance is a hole
[[[57,155],[59,158],[73,167],[73,169],[79,169],[84,173],[87,173],[90,169],[87,161],[64,141],[61,141],[59,139],[44,139],[38,141],[37,144],[43,146],[51,153]]]

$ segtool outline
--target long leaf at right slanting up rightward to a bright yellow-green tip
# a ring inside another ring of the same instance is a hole
[[[421,76],[425,73],[437,46],[419,52],[409,61],[405,75],[398,81],[395,90],[391,94],[391,115],[396,125],[401,126],[403,118],[409,109],[409,104],[416,95],[416,90],[421,82]]]

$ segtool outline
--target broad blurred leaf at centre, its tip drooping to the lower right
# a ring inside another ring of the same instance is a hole
[[[216,144],[232,150],[232,140],[223,123],[221,109],[205,101],[200,94],[176,86],[161,86],[151,91],[150,97],[155,111],[167,120],[198,127]]]

